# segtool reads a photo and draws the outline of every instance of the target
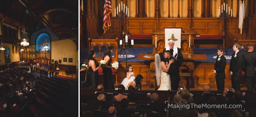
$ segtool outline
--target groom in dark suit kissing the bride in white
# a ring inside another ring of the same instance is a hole
[[[168,61],[168,62],[169,62],[169,60],[174,59],[174,62],[172,62],[171,66],[170,66],[170,69],[167,72],[167,74],[170,75],[172,90],[178,90],[178,88],[179,88],[179,80],[180,80],[178,62],[171,55],[171,51],[170,50],[164,51],[164,58],[167,58],[166,61]]]

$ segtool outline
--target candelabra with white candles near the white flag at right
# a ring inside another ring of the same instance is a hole
[[[221,12],[219,7],[219,9],[217,10],[217,13],[218,13],[217,25],[219,25],[219,23],[224,19],[227,19],[228,22],[231,22],[231,25],[232,25],[232,9],[230,14],[230,7],[228,7],[228,4],[226,4],[226,10],[225,10],[225,3],[224,3],[224,10],[223,10],[223,5],[221,5]]]

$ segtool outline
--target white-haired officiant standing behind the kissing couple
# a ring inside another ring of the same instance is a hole
[[[163,55],[164,55],[164,52],[166,50],[170,50],[171,51],[171,55],[172,56],[175,56],[175,60],[178,61],[178,66],[181,66],[181,62],[183,61],[183,55],[181,53],[181,50],[179,48],[177,48],[176,46],[174,46],[174,41],[173,40],[169,40],[168,42],[168,47],[167,48],[164,48],[164,51],[163,51]],[[177,55],[176,55],[177,54]],[[179,70],[178,70],[179,71]]]

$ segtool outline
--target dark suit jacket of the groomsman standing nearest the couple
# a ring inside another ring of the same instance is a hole
[[[216,58],[216,62],[215,62],[215,65],[214,65],[214,69],[216,70],[216,75],[215,75],[215,78],[216,79],[225,79],[225,67],[226,67],[226,58],[224,57],[224,55],[222,55],[220,57],[220,61],[218,61],[218,58],[219,56],[217,56]]]

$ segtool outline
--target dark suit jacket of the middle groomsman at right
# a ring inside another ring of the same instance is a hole
[[[233,53],[230,61],[230,68],[229,71],[232,71],[233,75],[235,77],[241,77],[242,76],[242,64],[243,64],[243,56],[242,54],[238,51],[236,54]]]

